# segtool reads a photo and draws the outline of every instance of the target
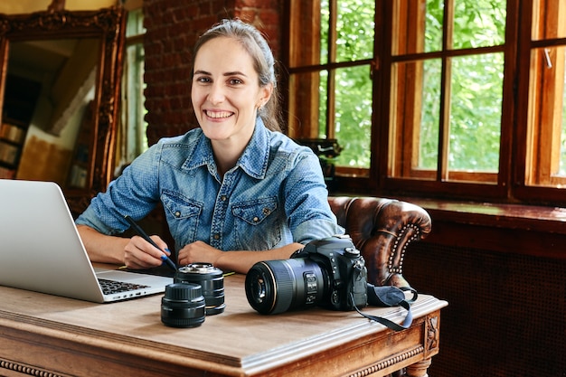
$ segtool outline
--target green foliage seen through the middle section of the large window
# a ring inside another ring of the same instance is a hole
[[[430,1],[427,5],[426,45],[441,38],[444,17],[442,4]],[[505,0],[456,1],[454,14],[454,45],[452,49],[479,48],[500,45],[505,42]],[[430,27],[429,25],[437,25]],[[448,46],[449,48],[449,46]],[[503,53],[478,53],[453,58],[451,64],[450,116],[448,119],[448,168],[496,173],[499,166],[499,142],[501,136],[501,112],[503,98]],[[425,75],[437,76],[438,84],[424,86],[423,106],[433,105],[440,99],[440,72],[437,64],[425,65],[433,71]],[[437,108],[434,106],[434,108]],[[439,127],[439,114],[423,111],[421,128],[420,167],[436,168],[438,143],[427,135],[438,137],[438,131],[427,127]],[[429,146],[437,150],[430,150]],[[433,158],[429,158],[432,156]]]

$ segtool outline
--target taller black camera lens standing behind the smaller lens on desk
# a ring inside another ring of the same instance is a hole
[[[224,311],[224,278],[222,269],[211,263],[192,263],[177,269],[174,283],[199,284],[203,288],[206,315],[213,316]]]

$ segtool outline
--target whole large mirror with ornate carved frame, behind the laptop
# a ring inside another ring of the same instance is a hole
[[[0,178],[54,181],[71,212],[112,177],[125,11],[0,14]]]

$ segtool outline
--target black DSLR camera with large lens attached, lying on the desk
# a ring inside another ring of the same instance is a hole
[[[311,241],[290,259],[256,263],[245,287],[250,306],[266,315],[310,306],[345,311],[367,305],[365,261],[347,235]]]

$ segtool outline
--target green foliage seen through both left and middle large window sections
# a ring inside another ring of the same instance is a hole
[[[425,52],[441,49],[443,1],[429,0],[426,9]],[[328,1],[322,5],[321,58],[327,59]],[[339,0],[336,22],[335,61],[354,61],[373,56],[375,3]],[[495,46],[505,42],[506,0],[456,1],[453,49]],[[326,22],[326,25],[325,25]],[[439,60],[424,61],[419,164],[436,169],[439,153]],[[451,60],[449,103],[449,169],[496,172],[503,88],[503,53],[478,53]],[[336,165],[368,168],[371,151],[373,98],[370,67],[334,71],[335,137],[344,150]],[[320,80],[320,133],[325,137],[325,91],[328,72]],[[332,125],[331,125],[332,127]]]

